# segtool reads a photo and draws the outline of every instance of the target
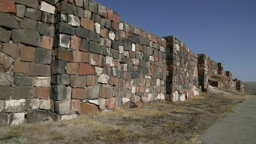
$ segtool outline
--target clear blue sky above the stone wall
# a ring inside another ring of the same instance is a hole
[[[256,0],[95,0],[120,19],[158,36],[173,35],[233,79],[256,81]]]

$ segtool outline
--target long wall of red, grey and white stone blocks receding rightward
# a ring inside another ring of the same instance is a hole
[[[184,101],[225,72],[90,0],[0,0],[0,18],[0,126]]]

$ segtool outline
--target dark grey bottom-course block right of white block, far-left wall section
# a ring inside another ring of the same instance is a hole
[[[46,110],[32,110],[26,112],[28,123],[42,122],[44,118],[50,116],[50,112]]]

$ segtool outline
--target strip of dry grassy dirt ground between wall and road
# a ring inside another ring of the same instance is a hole
[[[0,128],[0,144],[198,144],[198,135],[248,98],[201,93],[185,102],[157,102],[137,108]]]

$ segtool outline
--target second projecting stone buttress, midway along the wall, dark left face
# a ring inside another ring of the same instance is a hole
[[[174,36],[164,38],[167,40],[167,99],[177,101],[197,96],[197,55],[188,49],[184,42],[181,42]]]

